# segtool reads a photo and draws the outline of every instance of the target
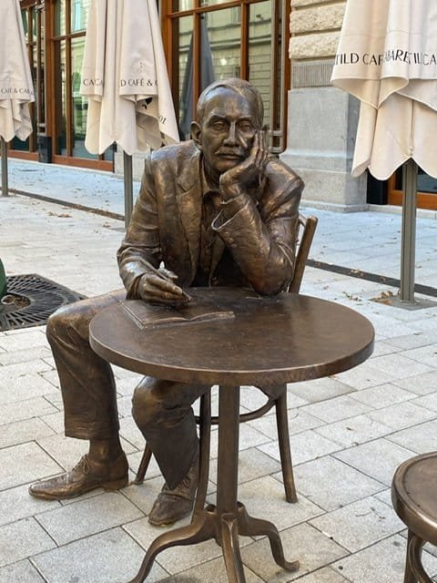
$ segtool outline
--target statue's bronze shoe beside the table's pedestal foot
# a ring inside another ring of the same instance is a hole
[[[164,484],[148,515],[148,522],[154,527],[167,527],[187,517],[193,509],[197,489],[198,451],[187,476],[176,488],[170,490],[167,482]]]

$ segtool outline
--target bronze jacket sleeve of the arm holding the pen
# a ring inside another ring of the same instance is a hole
[[[117,251],[117,261],[127,298],[137,299],[139,279],[158,268],[161,261],[156,188],[150,158],[145,161],[141,188],[126,236]]]

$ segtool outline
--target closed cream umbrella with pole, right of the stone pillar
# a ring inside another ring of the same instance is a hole
[[[418,166],[437,178],[437,3],[348,0],[331,82],[361,100],[351,173],[403,165],[401,301],[413,302]]]

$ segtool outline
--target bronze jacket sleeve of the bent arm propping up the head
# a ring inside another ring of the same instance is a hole
[[[294,274],[302,180],[270,160],[257,199],[249,192],[223,204],[212,223],[240,270],[262,295],[287,289]]]

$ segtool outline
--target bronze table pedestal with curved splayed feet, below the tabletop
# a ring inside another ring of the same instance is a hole
[[[220,386],[219,458],[217,506],[207,506],[188,527],[171,530],[156,538],[147,550],[137,577],[129,583],[142,583],[161,550],[178,545],[193,545],[215,538],[223,551],[229,583],[246,583],[239,553],[239,535],[267,535],[277,564],[289,571],[299,568],[299,561],[284,557],[278,529],[268,520],[250,517],[237,501],[239,469],[239,387]]]

